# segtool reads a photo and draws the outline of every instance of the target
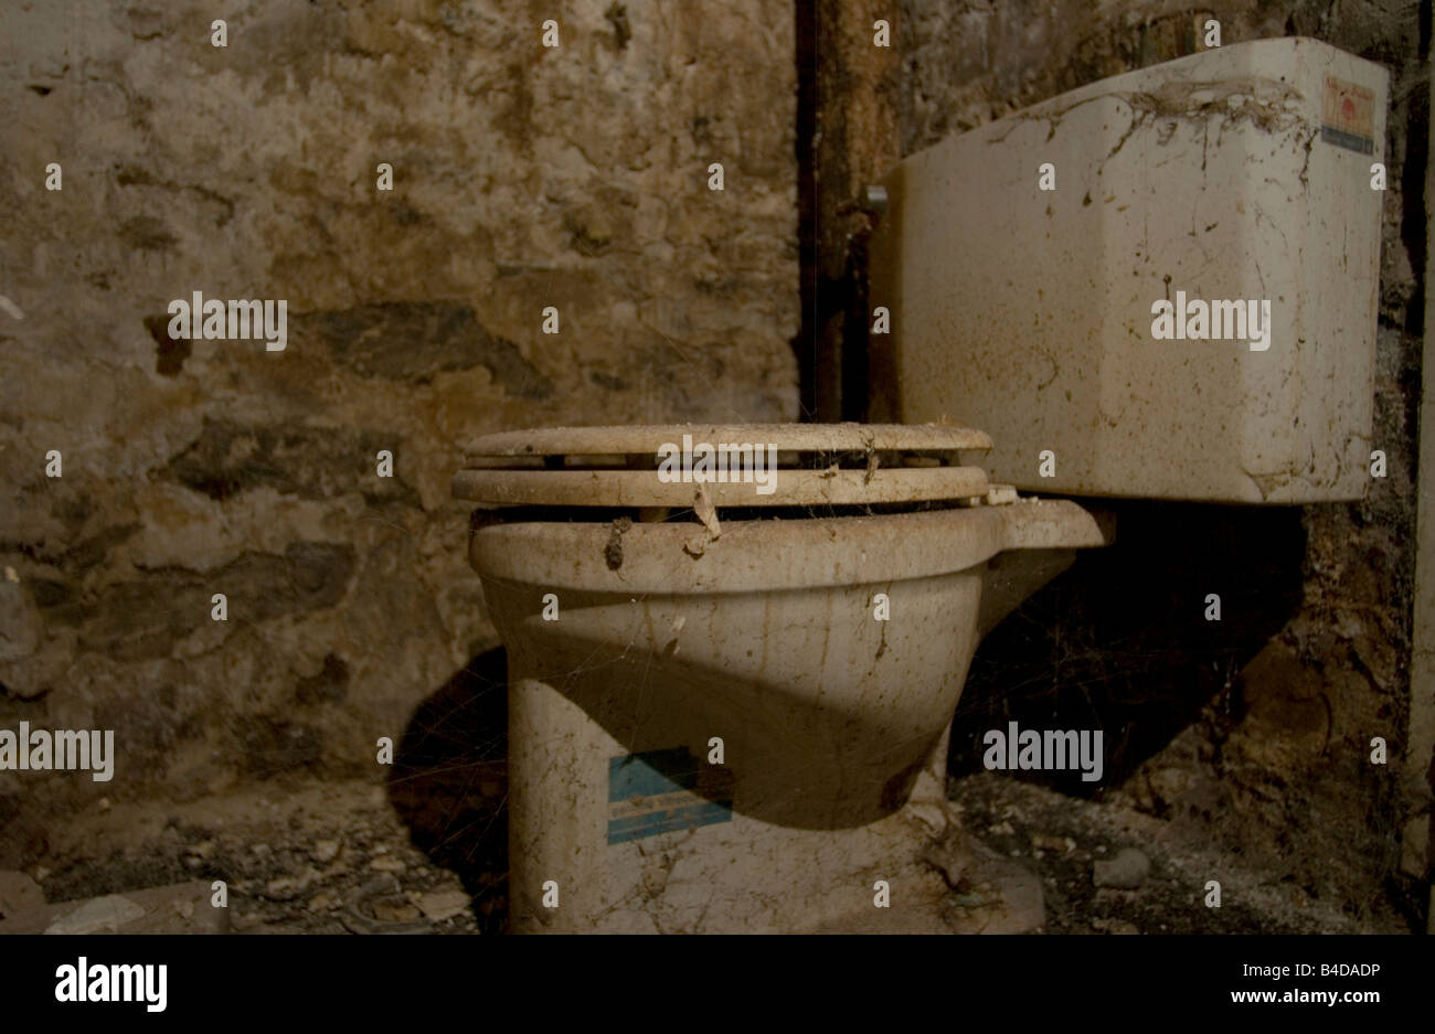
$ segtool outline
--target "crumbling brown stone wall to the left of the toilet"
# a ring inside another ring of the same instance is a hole
[[[795,419],[794,90],[781,0],[10,4],[0,727],[118,763],[0,777],[0,868],[100,795],[373,772],[497,642],[464,439]],[[192,291],[287,348],[169,340]]]

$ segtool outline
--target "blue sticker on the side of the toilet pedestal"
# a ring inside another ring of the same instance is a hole
[[[608,759],[608,843],[732,822],[732,773],[687,747]]]

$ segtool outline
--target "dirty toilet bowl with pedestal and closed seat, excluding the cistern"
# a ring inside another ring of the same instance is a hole
[[[683,435],[776,445],[775,490],[703,485],[716,522],[693,519],[697,485],[653,469]],[[944,767],[980,635],[1109,541],[953,462],[989,445],[858,424],[474,443],[455,493],[491,508],[471,561],[508,647],[515,929],[862,928],[874,881],[916,885],[946,825],[918,777]]]

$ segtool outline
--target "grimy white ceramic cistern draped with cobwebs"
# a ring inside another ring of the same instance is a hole
[[[1386,80],[1314,40],[1240,43],[907,158],[870,252],[874,419],[982,427],[992,479],[1029,490],[1360,498]]]

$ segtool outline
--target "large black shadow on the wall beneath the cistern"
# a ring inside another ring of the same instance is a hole
[[[1105,502],[1105,505],[1112,505]],[[1104,730],[1105,772],[1013,772],[1076,796],[1121,783],[1165,747],[1300,607],[1294,506],[1116,503],[1116,544],[1086,551],[982,642],[949,772],[983,770],[987,730]],[[1220,620],[1207,620],[1208,597]],[[1238,691],[1218,701],[1238,707]],[[1224,716],[1230,724],[1240,714]]]

